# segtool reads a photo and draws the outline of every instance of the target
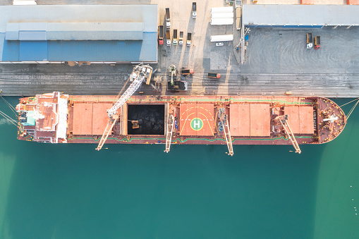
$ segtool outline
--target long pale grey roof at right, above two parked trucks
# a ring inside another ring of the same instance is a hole
[[[359,6],[243,5],[244,25],[359,25]]]

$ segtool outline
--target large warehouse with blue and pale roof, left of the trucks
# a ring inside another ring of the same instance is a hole
[[[0,63],[157,63],[157,5],[0,6]]]

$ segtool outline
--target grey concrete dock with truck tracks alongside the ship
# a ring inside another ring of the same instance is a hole
[[[10,2],[10,1],[9,1]],[[37,1],[38,4],[72,4],[72,1]],[[6,2],[7,4],[7,2]],[[133,4],[132,1],[77,1],[77,4]],[[233,25],[210,25],[210,8],[225,6],[223,1],[197,1],[197,18],[192,18],[192,1],[138,1],[158,4],[159,24],[164,9],[171,9],[171,31],[193,33],[190,47],[159,47],[159,68],[164,76],[162,92],[142,85],[142,94],[166,92],[166,72],[170,63],[177,68],[193,68],[184,94],[284,95],[358,97],[359,28],[327,27],[313,30],[253,29],[249,32],[246,61],[238,64],[234,50],[239,32]],[[320,49],[306,49],[306,32],[321,36]],[[211,35],[234,35],[233,42],[216,47]],[[133,66],[116,64],[68,66],[60,64],[0,64],[0,90],[3,96],[30,96],[60,91],[67,94],[117,94]],[[207,78],[208,72],[221,73],[221,79]],[[137,94],[139,94],[139,92]],[[178,93],[177,93],[178,94]],[[183,94],[183,92],[181,92]]]

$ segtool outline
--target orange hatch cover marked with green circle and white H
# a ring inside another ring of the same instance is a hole
[[[214,104],[181,104],[180,135],[214,135]]]

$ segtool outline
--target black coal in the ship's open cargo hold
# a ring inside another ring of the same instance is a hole
[[[128,105],[128,135],[164,135],[164,105]],[[130,121],[138,121],[132,128]]]

